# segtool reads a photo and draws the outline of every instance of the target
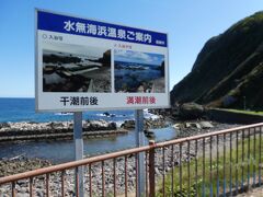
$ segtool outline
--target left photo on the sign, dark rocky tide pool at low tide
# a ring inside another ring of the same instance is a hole
[[[45,43],[43,92],[111,92],[111,50]]]

